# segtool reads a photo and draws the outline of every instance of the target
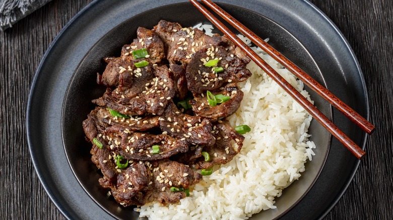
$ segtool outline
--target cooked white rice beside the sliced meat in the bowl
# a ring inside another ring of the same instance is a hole
[[[198,25],[197,25],[198,26]],[[212,26],[199,25],[211,33]],[[244,42],[250,43],[245,37]],[[303,83],[259,48],[253,48],[288,82],[309,99]],[[248,125],[243,148],[232,161],[213,167],[213,174],[190,188],[190,196],[178,204],[159,203],[138,208],[150,219],[247,219],[252,214],[276,208],[275,197],[297,180],[315,144],[307,134],[311,116],[255,63],[247,68],[252,76],[239,83],[244,97],[233,127]]]

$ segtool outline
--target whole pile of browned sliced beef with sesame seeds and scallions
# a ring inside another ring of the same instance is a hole
[[[83,122],[99,180],[123,206],[176,203],[205,169],[240,152],[236,112],[250,61],[225,36],[160,21],[106,57],[106,91]],[[169,63],[169,65],[168,65]],[[200,173],[198,170],[204,169]]]

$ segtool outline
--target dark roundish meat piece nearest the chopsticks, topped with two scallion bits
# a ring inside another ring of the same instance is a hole
[[[218,63],[212,67],[205,66],[210,60],[218,59]],[[215,68],[222,67],[222,72],[216,72]],[[186,78],[188,90],[193,94],[216,90],[226,82],[241,82],[251,76],[237,56],[228,53],[221,46],[204,47],[194,54],[191,62],[187,65]]]

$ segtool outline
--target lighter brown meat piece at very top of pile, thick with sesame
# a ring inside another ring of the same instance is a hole
[[[187,64],[194,53],[202,47],[224,43],[218,34],[210,37],[196,28],[182,28],[178,23],[163,20],[154,27],[153,31],[165,42],[166,57],[170,64],[176,62]]]

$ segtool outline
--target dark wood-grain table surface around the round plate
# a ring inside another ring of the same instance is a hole
[[[273,0],[272,0],[273,1]],[[91,0],[54,0],[0,32],[0,218],[63,219],[28,151],[26,106],[37,66],[61,28]],[[368,156],[325,219],[393,218],[393,1],[311,0],[343,32],[363,70],[370,121]]]

